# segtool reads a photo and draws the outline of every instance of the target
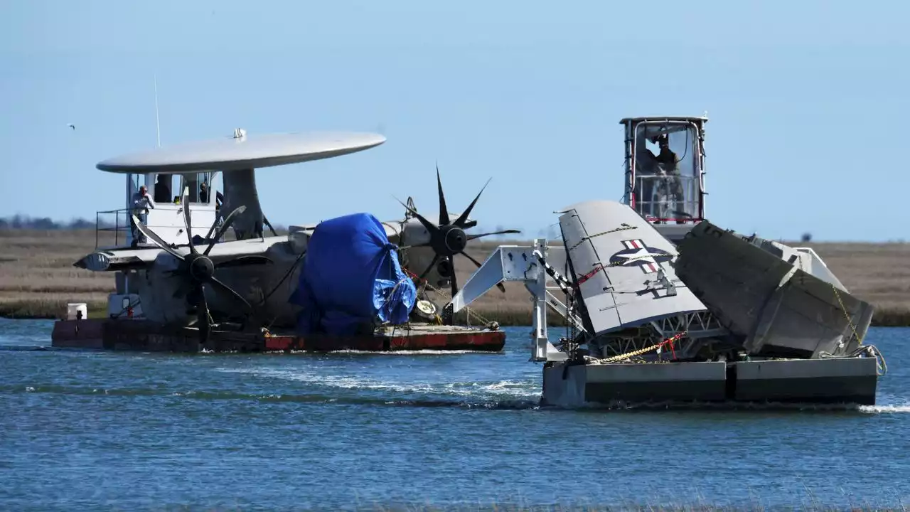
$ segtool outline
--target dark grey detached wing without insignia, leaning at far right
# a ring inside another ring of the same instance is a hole
[[[690,232],[676,268],[746,351],[817,357],[858,346],[874,308],[800,269],[800,251],[707,220]]]

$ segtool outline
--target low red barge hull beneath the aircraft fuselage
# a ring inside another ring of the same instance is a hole
[[[506,333],[498,329],[458,325],[411,324],[384,332],[329,336],[298,336],[282,333],[238,333],[213,330],[205,346],[197,330],[169,328],[147,320],[57,320],[51,346],[141,352],[333,352],[356,350],[394,352],[403,350],[470,350],[501,352]]]

